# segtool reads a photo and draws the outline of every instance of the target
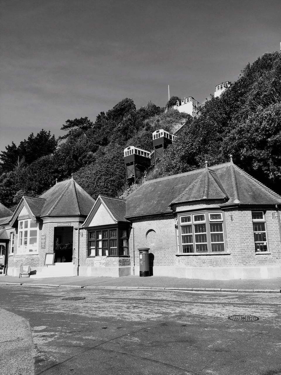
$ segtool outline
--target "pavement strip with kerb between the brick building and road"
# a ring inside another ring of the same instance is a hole
[[[233,293],[281,293],[281,278],[274,279],[235,279],[201,280],[179,279],[165,276],[123,276],[110,277],[57,277],[33,279],[28,277],[0,276],[0,285],[14,284],[31,287],[60,288],[108,288],[108,289],[159,289],[186,291],[214,291]]]

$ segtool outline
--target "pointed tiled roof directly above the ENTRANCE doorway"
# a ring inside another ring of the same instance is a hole
[[[40,216],[87,216],[94,199],[73,178],[55,184],[43,193],[45,199]]]

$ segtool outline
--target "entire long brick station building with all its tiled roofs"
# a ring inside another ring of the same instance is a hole
[[[7,273],[35,277],[151,275],[281,277],[281,196],[229,163],[146,181],[127,200],[91,198],[73,179],[23,197],[0,219]],[[1,237],[2,236],[2,237]],[[54,266],[44,267],[46,253]],[[1,261],[0,261],[1,263]]]

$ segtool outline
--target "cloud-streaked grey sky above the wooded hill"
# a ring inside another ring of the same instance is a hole
[[[0,151],[124,98],[204,102],[280,51],[280,0],[0,0]]]

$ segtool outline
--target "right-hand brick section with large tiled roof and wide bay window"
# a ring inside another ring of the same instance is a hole
[[[231,159],[147,181],[127,198],[126,219],[134,248],[150,248],[154,275],[270,278],[281,277],[280,205]]]

